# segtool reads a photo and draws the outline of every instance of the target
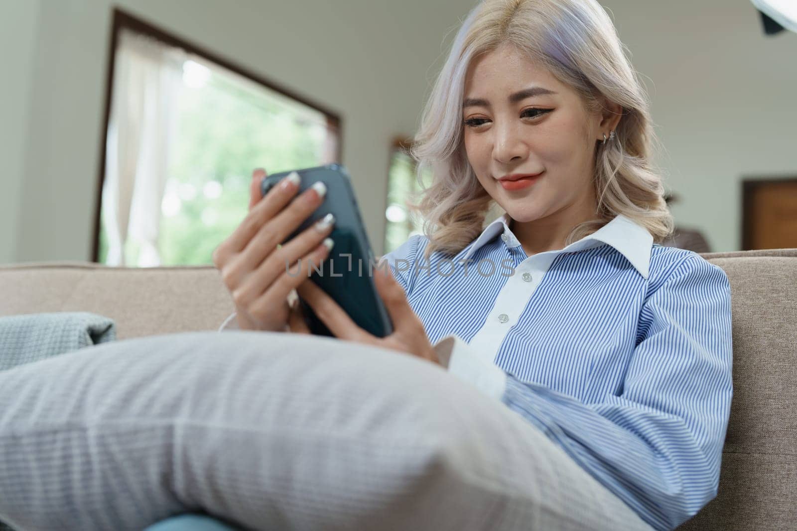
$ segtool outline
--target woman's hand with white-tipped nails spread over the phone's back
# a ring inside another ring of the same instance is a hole
[[[294,197],[299,189],[296,174],[296,178],[283,179],[261,197],[260,185],[265,175],[265,170],[253,171],[249,213],[214,249],[213,264],[233,296],[241,330],[284,331],[289,320],[302,322],[299,306],[289,305],[289,295],[296,295],[292,291],[308,281],[309,263],[318,267],[328,256],[331,247],[322,242],[332,232],[333,223],[309,227],[278,247],[321,205],[326,189],[321,184],[318,189],[310,188]],[[292,324],[292,330],[295,326],[300,324]],[[295,331],[306,331],[306,327]]]

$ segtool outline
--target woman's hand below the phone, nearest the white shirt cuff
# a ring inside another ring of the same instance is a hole
[[[404,289],[393,278],[389,265],[381,267],[380,264],[374,268],[374,283],[393,322],[393,333],[385,338],[377,338],[357,326],[344,309],[316,284],[305,282],[296,291],[337,338],[400,350],[441,365],[426,337],[423,323],[407,302]]]

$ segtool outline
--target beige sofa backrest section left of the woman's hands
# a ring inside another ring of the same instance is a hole
[[[108,267],[88,262],[0,266],[0,316],[90,311],[116,338],[216,330],[235,311],[210,266]]]

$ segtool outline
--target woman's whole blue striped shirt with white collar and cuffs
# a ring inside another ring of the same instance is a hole
[[[508,221],[457,256],[424,260],[429,240],[411,236],[384,258],[450,372],[654,528],[676,527],[717,495],[732,396],[727,276],[627,217],[532,256]]]

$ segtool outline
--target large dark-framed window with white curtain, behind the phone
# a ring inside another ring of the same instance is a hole
[[[95,261],[211,264],[254,168],[339,162],[340,119],[116,10]]]

